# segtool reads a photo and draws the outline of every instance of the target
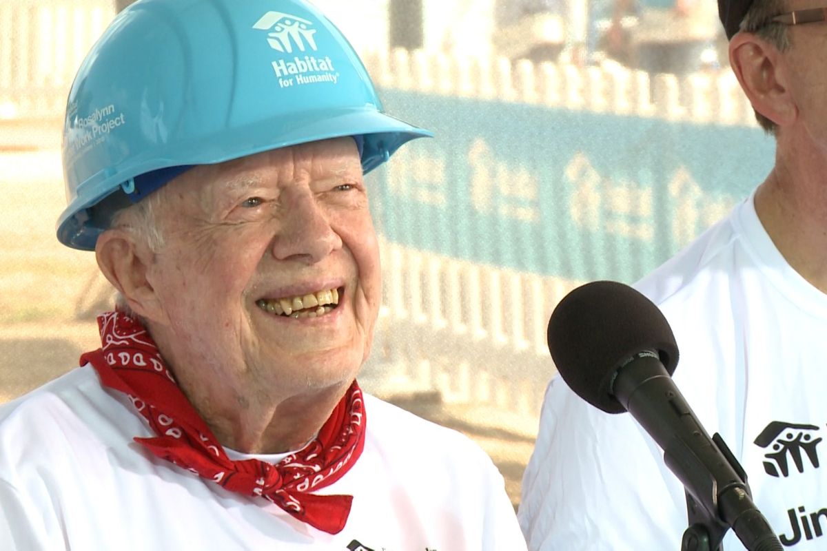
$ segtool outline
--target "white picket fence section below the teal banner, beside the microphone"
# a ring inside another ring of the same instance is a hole
[[[546,328],[582,282],[472,264],[381,241],[383,301],[366,377],[376,392],[536,419],[554,373]],[[536,428],[536,427],[532,427]]]

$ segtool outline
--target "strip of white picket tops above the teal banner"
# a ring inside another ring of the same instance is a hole
[[[527,59],[458,59],[422,50],[367,52],[366,67],[380,88],[572,111],[611,112],[753,126],[753,108],[729,69],[677,76],[650,75],[619,64],[534,64]]]

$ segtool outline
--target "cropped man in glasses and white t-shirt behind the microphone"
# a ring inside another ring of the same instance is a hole
[[[681,347],[677,386],[749,476],[781,543],[827,549],[827,2],[719,0],[729,59],[775,167],[638,284]],[[686,499],[628,415],[556,378],[523,477],[529,549],[681,549]],[[730,531],[724,549],[743,549]]]

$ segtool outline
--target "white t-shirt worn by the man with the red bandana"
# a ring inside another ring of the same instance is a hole
[[[354,496],[332,535],[145,451],[128,398],[75,369],[0,407],[0,549],[525,549],[476,444],[375,397],[365,409],[361,457],[318,492]]]

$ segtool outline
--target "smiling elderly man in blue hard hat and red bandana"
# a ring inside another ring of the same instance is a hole
[[[0,409],[0,549],[525,549],[476,445],[363,394],[381,112],[304,0],[140,0],[69,95],[59,239],[120,293]]]

